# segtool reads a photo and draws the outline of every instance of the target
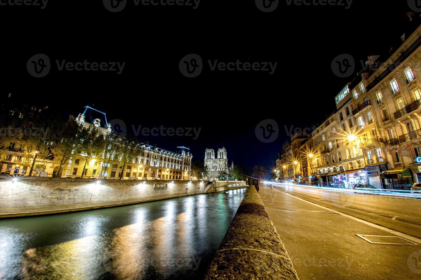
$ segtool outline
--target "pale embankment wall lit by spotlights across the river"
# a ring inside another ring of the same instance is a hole
[[[73,212],[202,194],[207,183],[45,177],[23,177],[12,181],[10,176],[0,175],[0,218]]]

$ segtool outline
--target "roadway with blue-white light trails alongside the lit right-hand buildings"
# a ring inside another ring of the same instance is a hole
[[[314,199],[323,199],[336,205],[345,206],[346,208],[381,215],[413,225],[421,225],[421,199],[354,194],[354,192],[330,191],[282,184],[274,184],[274,186],[295,194],[301,194]]]

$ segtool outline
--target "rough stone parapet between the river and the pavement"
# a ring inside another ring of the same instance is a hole
[[[247,190],[205,275],[210,279],[298,279],[256,188]]]

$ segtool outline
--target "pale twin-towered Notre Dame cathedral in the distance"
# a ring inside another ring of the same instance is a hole
[[[224,147],[222,147],[222,149],[218,149],[216,157],[215,151],[213,149],[206,149],[205,166],[209,170],[209,179],[217,179],[221,176],[230,178],[234,162],[231,162],[231,166],[228,165],[228,158],[226,156],[226,149]]]

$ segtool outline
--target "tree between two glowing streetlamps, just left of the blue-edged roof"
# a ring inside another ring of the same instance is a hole
[[[75,152],[79,152],[79,136],[80,127],[76,122],[70,121],[62,126],[58,131],[56,141],[51,146],[51,154],[53,155],[54,171],[56,177],[61,178],[63,172],[69,165],[69,160]]]

